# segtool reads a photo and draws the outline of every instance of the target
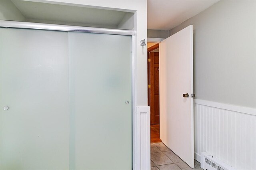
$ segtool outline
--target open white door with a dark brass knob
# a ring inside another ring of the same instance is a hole
[[[159,68],[160,139],[194,168],[192,25],[160,43]]]

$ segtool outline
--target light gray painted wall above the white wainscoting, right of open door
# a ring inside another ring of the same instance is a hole
[[[220,0],[193,25],[196,99],[256,108],[256,1]]]

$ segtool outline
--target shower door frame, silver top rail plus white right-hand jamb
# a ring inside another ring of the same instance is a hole
[[[68,26],[59,24],[45,24],[34,22],[19,22],[0,20],[0,28],[21,28],[21,29],[33,29],[33,30],[54,30],[64,32],[87,32],[96,34],[113,34],[132,36],[132,167],[134,170],[141,167],[141,152],[140,152],[140,140],[137,131],[139,130],[136,125],[136,34],[134,30],[121,30],[110,28],[96,28],[96,27],[84,27],[84,26]],[[100,45],[100,44],[99,44]]]

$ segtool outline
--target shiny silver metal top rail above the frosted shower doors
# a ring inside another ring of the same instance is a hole
[[[120,29],[82,27],[82,26],[66,26],[66,25],[58,25],[58,24],[44,24],[44,23],[6,21],[6,20],[0,20],[0,27],[69,31],[69,32],[91,32],[91,33],[99,33],[99,34],[134,36],[134,30],[120,30]]]

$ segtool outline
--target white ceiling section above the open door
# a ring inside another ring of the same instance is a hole
[[[170,30],[219,0],[148,0],[148,29]]]

